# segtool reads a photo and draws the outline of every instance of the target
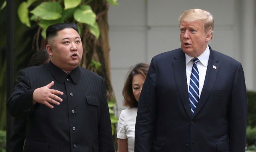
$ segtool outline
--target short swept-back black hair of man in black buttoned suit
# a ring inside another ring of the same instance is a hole
[[[53,24],[47,27],[46,29],[46,39],[48,40],[50,37],[54,37],[57,35],[57,32],[66,29],[66,28],[72,28],[78,32],[78,28],[75,23],[58,23],[58,24]]]

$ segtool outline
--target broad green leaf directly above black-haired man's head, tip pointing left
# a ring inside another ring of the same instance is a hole
[[[42,2],[30,13],[45,20],[54,20],[62,17],[62,7],[57,2]]]

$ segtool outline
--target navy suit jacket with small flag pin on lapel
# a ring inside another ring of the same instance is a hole
[[[246,117],[239,62],[210,48],[192,115],[185,54],[181,49],[162,53],[152,58],[138,102],[135,152],[244,152]]]

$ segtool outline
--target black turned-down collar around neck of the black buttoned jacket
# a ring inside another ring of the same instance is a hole
[[[79,67],[76,67],[69,74],[67,74],[65,71],[54,65],[51,61],[46,64],[46,66],[48,67],[48,70],[51,72],[52,76],[61,84],[66,81],[68,76],[71,78],[71,80],[73,80],[74,84],[78,84],[80,80],[81,72]]]

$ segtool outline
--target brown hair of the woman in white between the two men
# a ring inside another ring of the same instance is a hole
[[[124,106],[127,107],[138,107],[138,101],[135,99],[132,92],[132,78],[135,74],[142,74],[144,78],[146,78],[148,74],[149,64],[146,63],[138,63],[132,70],[129,72],[129,75],[126,78],[126,82],[124,84],[123,96],[124,96]]]

